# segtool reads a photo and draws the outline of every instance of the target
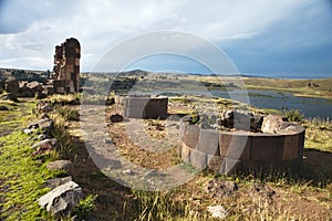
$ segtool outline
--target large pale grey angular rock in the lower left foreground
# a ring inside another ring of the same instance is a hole
[[[38,203],[51,213],[66,215],[82,198],[80,186],[74,181],[69,181],[39,198]]]

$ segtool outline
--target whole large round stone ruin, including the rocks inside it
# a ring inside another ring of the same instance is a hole
[[[305,133],[301,125],[278,115],[241,113],[237,120],[231,119],[235,115],[224,113],[217,124],[209,124],[206,117],[193,124],[190,117],[184,117],[178,145],[181,159],[221,175],[299,171]]]

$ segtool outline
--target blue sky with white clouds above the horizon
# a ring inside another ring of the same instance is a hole
[[[73,36],[81,42],[81,71],[90,72],[117,45],[165,30],[214,44],[240,73],[332,77],[331,0],[0,0],[0,67],[52,70],[54,46]],[[199,61],[165,53],[126,69],[209,72]]]

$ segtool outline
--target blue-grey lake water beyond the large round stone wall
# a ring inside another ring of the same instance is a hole
[[[214,91],[211,93],[215,96],[224,98],[231,97],[232,99],[248,103],[260,108],[272,108],[278,110],[282,110],[283,108],[301,109],[307,118],[332,118],[332,99],[297,97],[290,93],[258,90],[248,90],[248,94],[246,94],[246,92],[237,92],[231,94],[231,96],[229,96],[228,92],[222,91]]]

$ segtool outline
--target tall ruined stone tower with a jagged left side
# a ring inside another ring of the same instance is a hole
[[[55,46],[53,66],[53,92],[60,94],[79,91],[81,45],[74,39],[66,39]]]

